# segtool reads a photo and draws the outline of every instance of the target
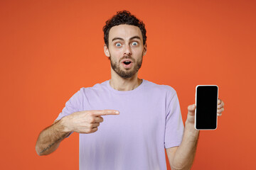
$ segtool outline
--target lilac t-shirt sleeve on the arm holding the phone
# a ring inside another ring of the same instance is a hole
[[[164,147],[177,147],[181,145],[184,125],[181,117],[181,108],[178,102],[176,91],[167,97],[167,115],[166,115],[166,130],[164,137]]]

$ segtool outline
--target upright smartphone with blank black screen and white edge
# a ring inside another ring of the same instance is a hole
[[[218,86],[196,86],[196,130],[217,129]]]

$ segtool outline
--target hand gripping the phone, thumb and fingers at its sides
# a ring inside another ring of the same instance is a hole
[[[217,115],[218,116],[222,115],[222,112],[224,111],[224,102],[220,100],[220,98],[218,99],[217,108],[218,108]],[[193,123],[193,124],[195,123],[195,110],[196,110],[195,104],[188,106],[188,116],[187,116],[186,123]]]

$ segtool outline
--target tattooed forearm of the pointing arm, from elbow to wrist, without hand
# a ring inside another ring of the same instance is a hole
[[[38,155],[46,155],[55,151],[60,142],[65,139],[70,132],[65,132],[65,127],[61,120],[43,130],[36,142],[36,152]]]

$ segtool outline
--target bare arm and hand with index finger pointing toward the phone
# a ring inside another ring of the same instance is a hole
[[[67,137],[70,132],[92,133],[97,131],[97,127],[102,123],[101,115],[118,115],[118,111],[81,111],[57,120],[53,125],[43,130],[36,142],[36,153],[46,155],[54,152],[60,142]]]

